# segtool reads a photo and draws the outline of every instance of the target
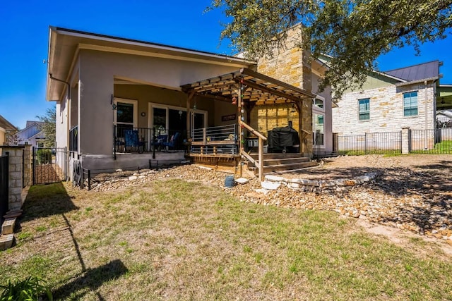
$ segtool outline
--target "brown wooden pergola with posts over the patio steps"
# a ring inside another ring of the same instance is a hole
[[[302,128],[302,103],[316,97],[316,94],[294,87],[275,78],[270,78],[254,70],[242,68],[240,70],[223,75],[198,80],[190,84],[182,85],[182,91],[188,94],[186,108],[187,112],[191,108],[191,100],[196,95],[210,99],[237,104],[237,118],[239,125],[254,133],[259,138],[259,161],[262,162],[263,140],[266,137],[244,123],[244,112],[246,120],[250,120],[250,111],[256,105],[264,104],[295,104],[295,109],[299,113],[299,135],[309,134]],[[246,109],[246,110],[243,110]],[[187,118],[187,137],[190,136],[189,118]],[[301,137],[300,137],[301,138]],[[247,156],[242,151],[242,133],[239,133],[239,149],[242,155]],[[250,158],[249,158],[250,159]],[[261,173],[261,172],[260,172]]]

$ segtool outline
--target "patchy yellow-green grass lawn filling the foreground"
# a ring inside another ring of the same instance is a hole
[[[264,207],[162,180],[114,192],[34,186],[0,283],[40,276],[57,300],[451,300],[452,264],[331,211]]]

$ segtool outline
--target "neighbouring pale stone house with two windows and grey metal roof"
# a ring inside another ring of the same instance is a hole
[[[361,90],[347,91],[333,108],[333,133],[400,132],[436,128],[439,61],[374,72]]]

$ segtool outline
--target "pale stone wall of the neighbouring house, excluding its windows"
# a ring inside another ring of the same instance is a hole
[[[417,91],[417,116],[403,116],[403,93]],[[333,133],[343,135],[362,133],[381,133],[400,131],[403,127],[415,130],[433,129],[434,123],[434,88],[424,84],[396,87],[389,85],[363,92],[347,93],[333,108]],[[369,98],[370,119],[359,121],[358,99]]]

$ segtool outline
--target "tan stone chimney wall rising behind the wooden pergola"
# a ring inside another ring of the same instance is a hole
[[[309,62],[309,51],[297,47],[301,42],[301,31],[294,27],[288,32],[285,47],[275,49],[273,58],[262,58],[258,60],[257,70],[259,73],[270,76],[277,80],[287,82],[311,92],[311,63]],[[291,104],[266,104],[254,106],[250,112],[251,126],[260,133],[267,135],[268,130],[276,127],[287,126],[292,121],[292,126],[299,131],[299,116],[292,109]],[[302,106],[302,129],[307,133],[301,133],[301,152],[309,155],[312,152],[312,101],[304,100]]]

